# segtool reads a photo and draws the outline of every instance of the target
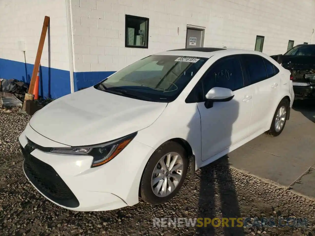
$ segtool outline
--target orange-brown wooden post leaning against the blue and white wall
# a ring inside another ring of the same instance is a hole
[[[41,59],[42,53],[43,53],[44,42],[45,42],[45,38],[46,38],[48,25],[49,25],[49,16],[45,16],[43,28],[42,28],[42,33],[41,33],[41,36],[39,39],[39,44],[38,44],[36,59],[35,59],[35,63],[34,63],[33,73],[32,73],[32,77],[31,77],[30,87],[28,88],[28,93],[26,93],[25,97],[24,97],[24,103],[23,103],[23,107],[22,107],[23,110],[25,110],[26,101],[34,99],[34,95],[32,93],[33,93],[33,90],[35,87],[39,63],[40,63],[40,59]]]

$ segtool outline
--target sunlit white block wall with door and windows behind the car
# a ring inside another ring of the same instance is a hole
[[[204,47],[253,50],[256,35],[265,36],[269,55],[284,53],[289,40],[310,43],[315,28],[314,0],[72,0],[72,14],[76,72],[116,71],[185,48],[187,25],[206,28]],[[149,18],[148,49],[124,47],[125,14]]]

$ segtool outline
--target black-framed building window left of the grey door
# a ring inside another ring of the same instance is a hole
[[[126,15],[125,47],[148,48],[149,19]]]

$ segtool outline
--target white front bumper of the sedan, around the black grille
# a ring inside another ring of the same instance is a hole
[[[63,155],[38,147],[29,151],[28,140],[47,147],[51,141],[29,125],[20,135],[27,179],[45,198],[74,211],[107,211],[138,203],[142,171],[154,149],[133,140],[110,162],[90,168],[88,155]],[[46,143],[47,142],[47,143]]]

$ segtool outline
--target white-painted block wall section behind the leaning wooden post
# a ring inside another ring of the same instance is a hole
[[[18,44],[24,41],[26,63],[34,64],[44,17],[47,15],[50,17],[50,66],[69,70],[65,0],[1,0],[0,13],[0,58],[24,62]],[[76,25],[81,25],[79,20],[80,17],[76,18]],[[48,34],[41,65],[48,66]]]

